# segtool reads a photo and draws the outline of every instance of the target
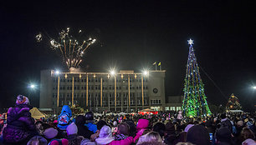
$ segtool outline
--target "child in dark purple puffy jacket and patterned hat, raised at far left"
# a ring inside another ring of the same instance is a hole
[[[3,129],[3,142],[27,144],[37,135],[33,117],[31,117],[28,97],[18,95],[16,105],[8,109],[7,127]]]

